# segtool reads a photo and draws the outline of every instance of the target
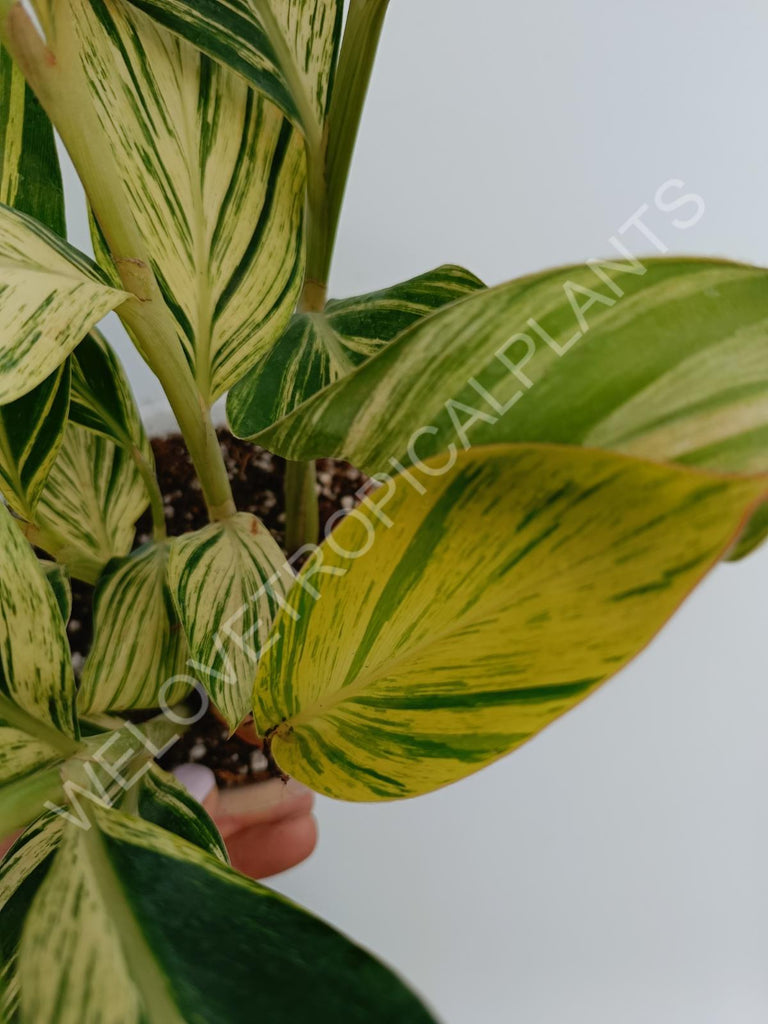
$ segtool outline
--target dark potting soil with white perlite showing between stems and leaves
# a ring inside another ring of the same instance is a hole
[[[239,440],[228,431],[220,430],[218,437],[238,508],[257,515],[284,547],[285,460]],[[183,439],[180,435],[154,438],[152,446],[169,535],[178,536],[205,526],[208,522],[205,502]],[[356,493],[365,482],[366,477],[348,463],[333,459],[317,462],[321,537],[335,512],[357,504]],[[146,512],[137,524],[136,546],[150,540],[151,530]],[[93,588],[73,580],[72,599],[68,632],[75,671],[79,673],[93,634]],[[162,764],[171,769],[186,761],[207,765],[221,786],[242,785],[268,774],[266,759],[259,748],[238,735],[229,737],[226,726],[211,711],[171,748]]]

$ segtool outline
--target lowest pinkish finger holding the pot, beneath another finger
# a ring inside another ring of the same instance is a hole
[[[265,879],[300,864],[316,843],[317,822],[304,814],[243,828],[226,841],[226,848],[232,867],[252,879]]]

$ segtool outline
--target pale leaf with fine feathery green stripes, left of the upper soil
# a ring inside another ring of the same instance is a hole
[[[111,558],[130,551],[146,505],[130,453],[70,423],[30,537],[72,575],[95,583]]]

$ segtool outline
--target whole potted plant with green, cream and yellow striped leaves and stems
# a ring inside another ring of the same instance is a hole
[[[26,827],[3,1020],[430,1020],[227,866],[155,764],[174,706],[199,680],[332,797],[427,793],[583,700],[768,529],[768,271],[613,259],[486,288],[446,265],[327,301],[386,6],[0,0],[0,836]],[[65,240],[53,127],[95,261]],[[112,310],[184,435],[198,532],[166,537]],[[316,540],[312,460],[380,484],[298,577],[234,507],[225,392],[289,460],[289,552]],[[96,585],[77,683],[70,577]]]

